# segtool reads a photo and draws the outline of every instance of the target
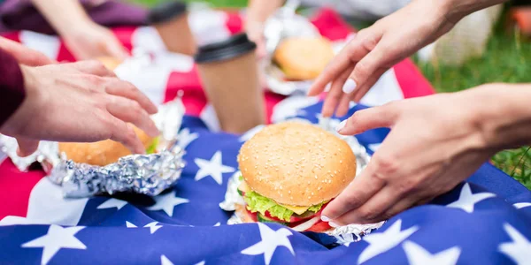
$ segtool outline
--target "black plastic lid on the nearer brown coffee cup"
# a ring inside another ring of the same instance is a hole
[[[236,34],[226,41],[199,47],[195,59],[198,64],[225,61],[240,57],[256,48],[257,44],[250,42],[247,34]]]

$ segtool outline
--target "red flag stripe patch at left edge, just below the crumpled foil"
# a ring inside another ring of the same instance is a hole
[[[6,159],[0,164],[0,220],[5,216],[27,215],[27,205],[29,194],[34,186],[45,174],[42,170],[31,170],[20,172],[12,163],[11,159]]]

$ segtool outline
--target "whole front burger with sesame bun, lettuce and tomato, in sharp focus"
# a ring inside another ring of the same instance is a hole
[[[294,122],[266,126],[243,144],[238,164],[245,205],[236,206],[236,215],[296,231],[331,229],[320,213],[356,176],[356,156],[345,141]]]

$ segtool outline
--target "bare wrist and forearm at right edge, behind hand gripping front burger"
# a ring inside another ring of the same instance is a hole
[[[465,91],[473,119],[488,148],[518,148],[531,143],[531,84],[489,84]]]

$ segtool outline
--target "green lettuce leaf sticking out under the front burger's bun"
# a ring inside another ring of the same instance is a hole
[[[293,216],[292,210],[283,208],[273,200],[268,199],[258,193],[245,193],[245,197],[243,199],[247,203],[247,208],[253,213],[259,212],[265,216],[266,211],[268,211],[269,215],[277,217],[286,222],[289,222],[290,217]]]

